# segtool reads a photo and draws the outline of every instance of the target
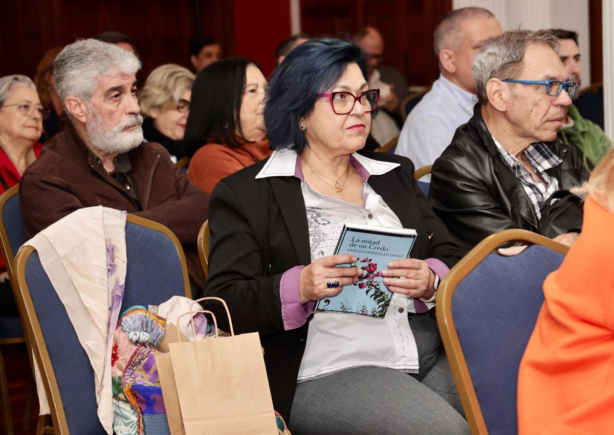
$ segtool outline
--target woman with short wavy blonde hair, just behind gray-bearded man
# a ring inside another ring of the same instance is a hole
[[[193,84],[192,72],[169,63],[154,69],[139,92],[145,140],[165,147],[173,161],[181,153]]]

